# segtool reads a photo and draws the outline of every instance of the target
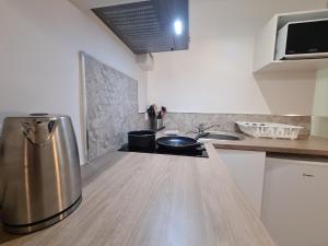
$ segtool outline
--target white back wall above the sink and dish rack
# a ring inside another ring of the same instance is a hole
[[[315,72],[254,77],[254,39],[279,12],[326,1],[190,1],[190,49],[155,54],[149,104],[171,112],[311,115]]]

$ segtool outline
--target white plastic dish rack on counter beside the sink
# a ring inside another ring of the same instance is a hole
[[[271,138],[271,139],[291,139],[298,138],[300,131],[304,127],[272,124],[272,122],[246,122],[237,121],[241,131],[255,138]]]

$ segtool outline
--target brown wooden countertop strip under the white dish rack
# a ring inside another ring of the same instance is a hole
[[[304,140],[245,137],[245,139],[241,141],[211,140],[211,142],[216,149],[328,156],[328,139],[318,137],[309,137]]]

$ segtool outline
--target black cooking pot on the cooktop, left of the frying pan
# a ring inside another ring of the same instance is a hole
[[[153,151],[156,147],[156,132],[152,130],[128,132],[128,145],[130,150]]]

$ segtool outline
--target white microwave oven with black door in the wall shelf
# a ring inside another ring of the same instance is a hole
[[[274,58],[328,58],[328,19],[285,24],[278,32]]]

